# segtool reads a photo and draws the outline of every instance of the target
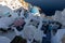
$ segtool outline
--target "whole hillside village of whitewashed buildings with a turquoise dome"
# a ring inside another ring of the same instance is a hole
[[[65,10],[47,16],[24,0],[20,0],[24,4],[18,0],[6,1],[0,2],[1,43],[65,43]]]

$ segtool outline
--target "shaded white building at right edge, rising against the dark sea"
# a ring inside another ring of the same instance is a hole
[[[63,26],[65,26],[65,10],[56,11],[55,15],[52,18],[56,22],[60,22]]]

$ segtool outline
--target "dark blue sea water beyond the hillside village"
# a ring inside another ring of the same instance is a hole
[[[32,5],[40,6],[46,15],[54,15],[55,11],[65,9],[65,0],[25,0]]]

